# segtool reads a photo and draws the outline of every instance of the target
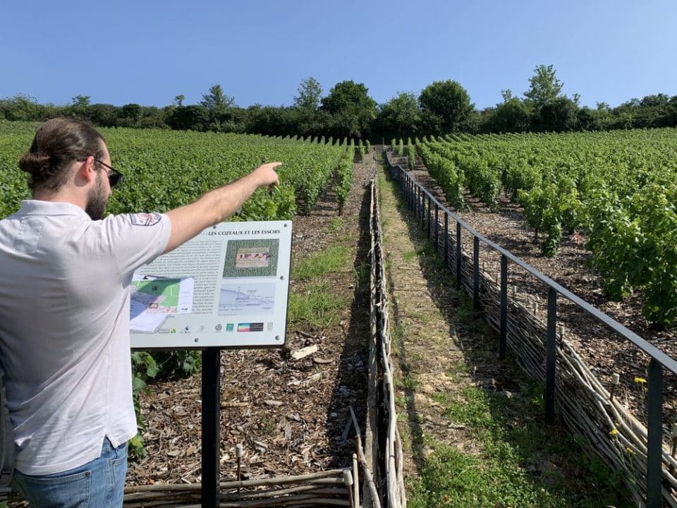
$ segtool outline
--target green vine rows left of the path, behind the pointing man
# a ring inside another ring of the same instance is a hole
[[[28,198],[26,176],[17,161],[30,146],[35,123],[0,123],[0,216]],[[291,219],[307,213],[330,183],[350,188],[353,151],[329,140],[266,138],[255,135],[193,133],[126,128],[102,129],[115,167],[125,183],[111,198],[111,213],[166,212],[247,174],[263,162],[281,161],[282,185],[258,191],[235,220]],[[336,177],[336,178],[335,178]]]

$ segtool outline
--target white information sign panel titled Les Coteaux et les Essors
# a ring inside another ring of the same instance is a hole
[[[134,272],[133,349],[281,347],[291,221],[223,222]]]

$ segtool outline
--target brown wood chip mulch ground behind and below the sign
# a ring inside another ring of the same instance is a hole
[[[358,269],[369,248],[368,182],[375,163],[355,164],[353,187],[336,231],[338,207],[328,191],[307,216],[293,219],[293,259],[343,241]],[[338,239],[338,240],[337,240]],[[327,329],[288,327],[283,349],[221,352],[221,481],[296,476],[348,466],[355,449],[353,406],[362,428],[367,397],[369,291],[353,270],[330,274],[350,302]],[[292,290],[302,287],[291,280]],[[200,375],[157,382],[142,396],[147,456],[130,461],[126,485],[199,483]]]

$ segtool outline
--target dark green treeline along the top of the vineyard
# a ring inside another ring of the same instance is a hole
[[[323,97],[314,78],[303,80],[289,107],[255,104],[243,108],[221,85],[212,86],[199,104],[183,104],[177,95],[166,107],[140,104],[91,104],[78,95],[71,104],[39,104],[17,95],[0,99],[0,119],[44,121],[73,116],[102,127],[170,128],[182,131],[327,136],[389,140],[447,133],[609,131],[677,126],[677,95],[658,93],[630,99],[617,107],[605,102],[580,107],[579,97],[561,92],[553,66],[539,65],[522,97],[502,90],[503,102],[478,111],[470,95],[453,80],[428,85],[419,95],[401,92],[377,104],[362,83],[337,83]]]

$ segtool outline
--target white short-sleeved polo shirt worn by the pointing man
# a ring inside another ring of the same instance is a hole
[[[92,221],[80,207],[25,200],[0,221],[0,365],[16,468],[60,473],[136,432],[129,295],[162,253],[164,214]]]

